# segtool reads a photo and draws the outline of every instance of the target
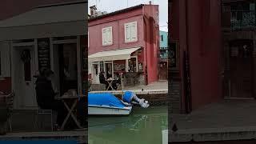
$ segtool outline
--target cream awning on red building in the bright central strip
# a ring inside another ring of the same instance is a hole
[[[141,47],[133,47],[129,49],[119,49],[119,50],[108,50],[101,51],[88,56],[89,62],[102,62],[102,61],[116,61],[130,59],[130,54],[134,51],[140,49]]]

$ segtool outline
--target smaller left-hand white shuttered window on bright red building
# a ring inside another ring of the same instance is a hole
[[[112,26],[102,29],[102,46],[109,46],[113,44]]]

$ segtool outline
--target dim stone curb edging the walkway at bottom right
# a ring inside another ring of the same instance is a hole
[[[256,126],[178,130],[170,132],[170,142],[210,142],[256,139]]]

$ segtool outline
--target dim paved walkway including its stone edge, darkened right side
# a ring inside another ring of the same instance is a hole
[[[171,114],[170,142],[217,141],[256,138],[256,101],[225,100],[191,114]]]

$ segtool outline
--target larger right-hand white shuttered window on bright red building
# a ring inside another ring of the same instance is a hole
[[[137,22],[125,23],[125,42],[137,42],[138,31]]]

